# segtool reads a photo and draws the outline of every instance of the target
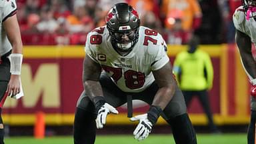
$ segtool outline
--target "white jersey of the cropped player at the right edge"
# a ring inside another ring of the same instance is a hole
[[[253,18],[246,20],[243,6],[238,7],[233,14],[235,29],[251,37],[251,42],[256,43],[256,21]]]

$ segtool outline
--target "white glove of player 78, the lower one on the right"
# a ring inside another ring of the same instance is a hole
[[[153,126],[149,119],[147,119],[147,113],[131,117],[131,121],[139,121],[139,124],[133,131],[134,139],[137,139],[138,141],[146,139],[147,136],[149,136],[149,133],[151,133]]]

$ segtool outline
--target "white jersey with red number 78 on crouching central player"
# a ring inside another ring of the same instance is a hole
[[[87,35],[85,51],[99,63],[113,82],[125,92],[140,92],[155,81],[152,71],[169,61],[163,37],[152,29],[139,27],[139,39],[132,51],[121,56],[111,45],[107,27],[98,27]],[[170,71],[171,73],[171,71]]]

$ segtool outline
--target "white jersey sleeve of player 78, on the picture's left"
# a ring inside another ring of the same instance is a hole
[[[95,51],[95,45],[91,45],[90,43],[91,33],[88,33],[86,43],[85,43],[85,53],[88,55],[93,61],[99,63],[97,61],[97,52]]]

